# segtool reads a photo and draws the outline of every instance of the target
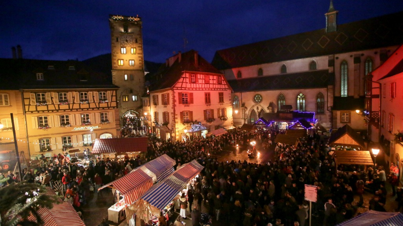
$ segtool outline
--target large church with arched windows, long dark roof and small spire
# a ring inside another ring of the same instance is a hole
[[[366,75],[403,42],[403,12],[342,25],[338,16],[330,1],[323,29],[216,51],[212,65],[234,90],[234,125],[263,117],[287,128],[310,113],[322,131],[348,124],[366,134],[362,112],[379,117]]]

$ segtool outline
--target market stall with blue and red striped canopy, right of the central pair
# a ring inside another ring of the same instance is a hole
[[[141,222],[159,217],[161,210],[170,211],[173,201],[178,199],[183,192],[187,192],[185,189],[187,183],[194,180],[203,168],[196,160],[184,164],[129,206],[126,212],[127,220],[132,220],[135,214],[136,225],[141,225]]]

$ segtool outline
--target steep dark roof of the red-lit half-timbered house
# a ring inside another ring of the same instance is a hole
[[[197,66],[195,64],[195,54],[197,54],[197,59],[199,61]],[[186,53],[181,53],[181,62],[177,59],[171,66],[162,64],[158,72],[150,77],[150,91],[172,87],[179,78],[181,78],[184,71],[222,74],[204,58],[198,55],[197,51],[192,49]]]

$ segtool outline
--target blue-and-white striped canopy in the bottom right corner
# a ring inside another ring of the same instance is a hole
[[[337,226],[402,226],[403,214],[369,210]]]

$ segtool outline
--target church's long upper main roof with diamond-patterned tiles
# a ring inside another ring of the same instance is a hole
[[[332,55],[400,45],[403,41],[403,11],[368,20],[270,39],[216,51],[212,65],[219,70]]]

